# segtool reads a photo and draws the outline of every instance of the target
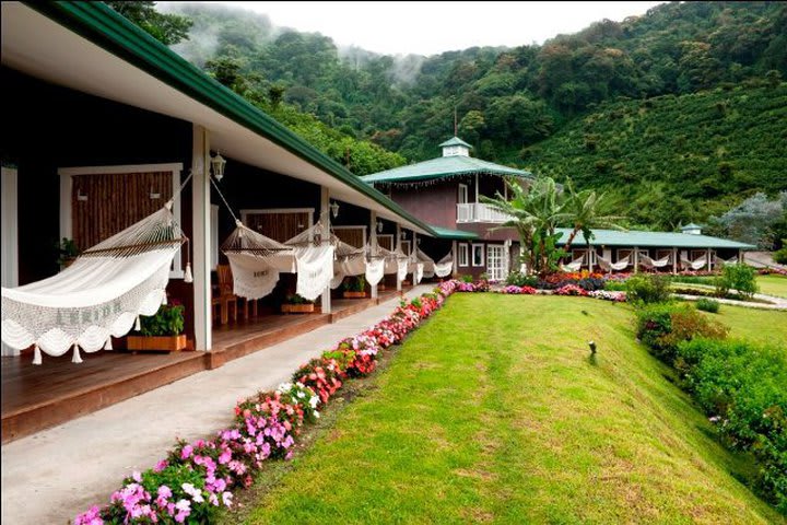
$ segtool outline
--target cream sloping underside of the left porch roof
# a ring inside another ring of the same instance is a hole
[[[203,126],[210,130],[211,149],[221,150],[224,156],[326,186],[331,198],[374,210],[384,219],[432,235],[416,219],[402,217],[399,213],[402,210],[381,194],[353,188],[273,140],[19,2],[2,2],[2,63],[57,85]],[[67,130],[68,122],[61,124]],[[359,184],[366,186],[361,180]]]

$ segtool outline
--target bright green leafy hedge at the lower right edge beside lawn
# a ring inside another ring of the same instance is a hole
[[[787,513],[787,349],[696,338],[676,368],[732,448],[760,462],[757,488]]]

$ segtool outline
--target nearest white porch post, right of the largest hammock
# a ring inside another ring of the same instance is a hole
[[[193,126],[191,139],[191,269],[193,272],[195,350],[210,351],[213,316],[211,312],[210,254],[210,136]]]

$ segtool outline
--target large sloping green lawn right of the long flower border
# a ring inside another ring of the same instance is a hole
[[[450,298],[247,523],[784,523],[632,325],[602,301]]]

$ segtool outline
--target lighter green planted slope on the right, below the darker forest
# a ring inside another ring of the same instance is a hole
[[[613,189],[618,213],[635,222],[686,223],[787,187],[785,122],[787,83],[606,103],[526,150],[526,163]],[[694,206],[676,206],[682,198]]]

